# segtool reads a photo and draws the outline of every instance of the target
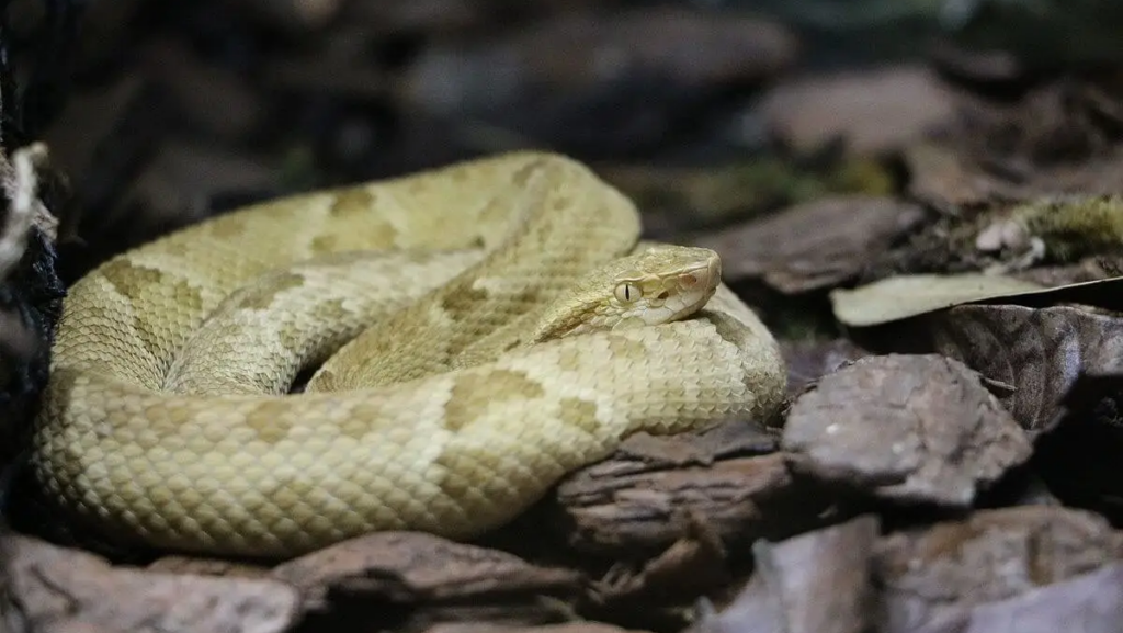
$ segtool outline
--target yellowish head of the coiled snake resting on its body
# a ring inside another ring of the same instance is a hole
[[[578,280],[548,310],[535,338],[659,325],[686,318],[721,283],[710,248],[657,244],[609,262]]]

